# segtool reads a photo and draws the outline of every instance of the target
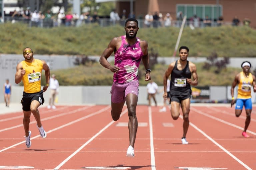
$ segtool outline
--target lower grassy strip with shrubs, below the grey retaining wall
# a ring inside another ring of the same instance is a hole
[[[219,74],[215,74],[216,68],[211,68],[209,71],[203,70],[203,63],[196,64],[199,86],[206,85],[231,85],[235,75],[241,71],[238,68],[226,68]],[[151,78],[158,85],[163,85],[163,75],[168,68],[168,65],[157,64],[151,72]],[[144,66],[140,66],[141,73],[145,73]],[[52,71],[56,74],[60,85],[112,85],[113,73],[103,68],[99,63],[91,64],[90,66],[78,66],[68,70]],[[77,76],[79,75],[79,76]],[[139,80],[140,85],[147,85],[144,75]],[[45,83],[45,78],[42,80]]]

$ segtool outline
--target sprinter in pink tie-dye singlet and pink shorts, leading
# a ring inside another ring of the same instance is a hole
[[[136,106],[139,94],[138,70],[142,59],[145,67],[145,81],[151,80],[148,58],[148,43],[136,37],[138,21],[130,18],[125,22],[126,35],[113,38],[100,57],[100,64],[114,73],[111,89],[111,116],[117,121],[126,102],[129,116],[130,145],[126,156],[134,157],[134,143],[138,128]],[[107,59],[114,52],[115,64]]]

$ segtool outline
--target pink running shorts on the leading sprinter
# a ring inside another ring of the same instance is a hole
[[[133,93],[138,96],[139,81],[134,80],[125,84],[119,84],[119,83],[113,82],[110,93],[111,93],[111,101],[113,103],[122,103],[125,101],[125,97],[129,93]]]

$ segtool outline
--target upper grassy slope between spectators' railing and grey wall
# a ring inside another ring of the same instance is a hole
[[[35,54],[101,55],[113,37],[124,35],[123,26],[29,28],[22,24],[0,24],[0,53],[21,54],[31,47]],[[137,34],[159,56],[172,56],[179,28],[140,28]],[[255,57],[256,30],[249,27],[207,27],[183,30],[180,45],[190,48],[190,56]]]

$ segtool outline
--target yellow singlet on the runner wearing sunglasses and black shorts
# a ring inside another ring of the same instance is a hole
[[[34,59],[32,63],[22,61],[22,68],[25,70],[25,75],[22,77],[24,91],[26,93],[36,93],[41,91],[41,75],[43,63],[41,60]]]

